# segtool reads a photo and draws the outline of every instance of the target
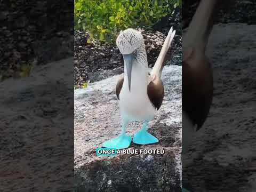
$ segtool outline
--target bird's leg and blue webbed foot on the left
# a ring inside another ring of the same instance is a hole
[[[116,148],[116,149],[125,149],[128,148],[131,144],[132,137],[125,134],[126,126],[128,124],[127,119],[122,119],[122,131],[118,137],[105,141],[103,147]]]

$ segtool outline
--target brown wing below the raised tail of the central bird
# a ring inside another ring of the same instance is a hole
[[[158,76],[148,84],[148,98],[157,110],[161,107],[164,99],[164,86]]]

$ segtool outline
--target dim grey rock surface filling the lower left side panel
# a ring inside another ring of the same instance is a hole
[[[0,83],[1,191],[71,190],[72,63],[73,58],[48,63],[29,77]]]

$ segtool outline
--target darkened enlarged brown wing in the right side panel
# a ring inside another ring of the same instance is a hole
[[[182,61],[182,110],[201,128],[209,113],[213,97],[210,63],[197,49]]]

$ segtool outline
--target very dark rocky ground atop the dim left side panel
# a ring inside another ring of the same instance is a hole
[[[0,81],[73,56],[73,1],[1,1]]]

